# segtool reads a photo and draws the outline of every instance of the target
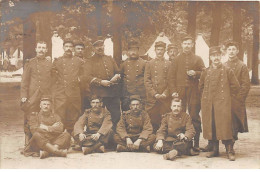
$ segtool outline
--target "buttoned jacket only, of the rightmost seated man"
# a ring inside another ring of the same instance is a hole
[[[161,126],[156,133],[156,140],[177,141],[177,135],[180,133],[184,133],[188,140],[195,136],[190,115],[185,112],[179,115],[169,112],[163,116]]]

